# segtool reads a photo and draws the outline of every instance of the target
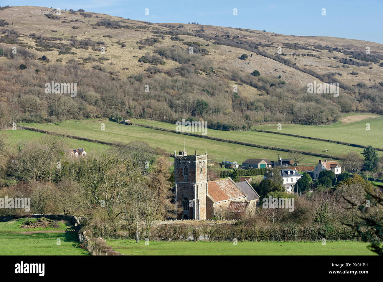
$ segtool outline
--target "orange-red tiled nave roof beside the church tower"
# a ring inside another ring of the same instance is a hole
[[[215,202],[246,197],[231,178],[209,181],[208,192]]]

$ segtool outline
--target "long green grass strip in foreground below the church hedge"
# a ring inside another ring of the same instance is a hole
[[[360,242],[156,242],[134,240],[106,240],[116,251],[126,255],[375,255],[367,243]]]

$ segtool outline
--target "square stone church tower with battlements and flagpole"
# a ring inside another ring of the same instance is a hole
[[[206,219],[206,194],[208,193],[208,154],[187,154],[174,151],[174,182],[176,204],[182,207],[178,219]]]

